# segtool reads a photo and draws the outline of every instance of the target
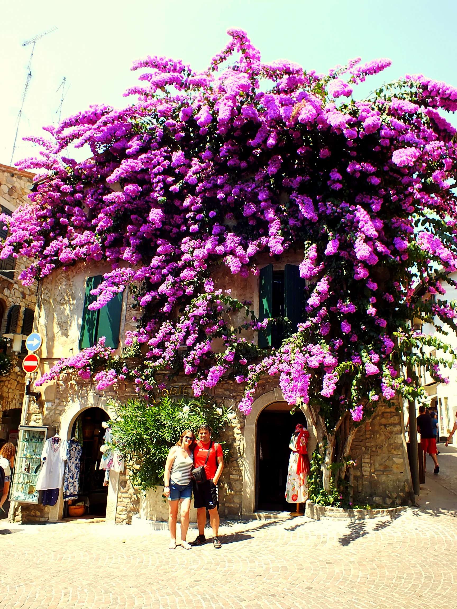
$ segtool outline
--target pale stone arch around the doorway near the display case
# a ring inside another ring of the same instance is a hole
[[[71,436],[71,430],[73,429],[73,424],[76,419],[82,414],[85,410],[89,408],[101,408],[106,412],[108,417],[115,417],[115,409],[107,404],[107,398],[101,397],[96,403],[72,403],[66,408],[65,412],[62,414],[62,418],[60,419],[60,426],[58,429],[58,434],[60,437],[68,441]],[[63,483],[62,483],[63,484]],[[108,497],[107,497],[107,508],[106,508],[106,517],[105,522],[110,524],[115,524],[116,521],[116,510],[118,507],[118,490],[119,490],[119,472],[111,471],[110,472],[110,482],[108,485]],[[49,521],[57,522],[62,520],[63,516],[63,493],[62,491],[59,493],[57,503],[51,507],[49,510]]]

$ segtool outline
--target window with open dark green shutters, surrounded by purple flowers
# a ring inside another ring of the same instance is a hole
[[[289,333],[297,331],[297,324],[303,321],[304,280],[299,267],[286,264],[284,270],[273,270],[269,264],[260,269],[259,319],[284,319],[290,322]],[[258,345],[263,349],[280,347],[285,338],[285,325],[273,322],[266,330],[259,332]]]

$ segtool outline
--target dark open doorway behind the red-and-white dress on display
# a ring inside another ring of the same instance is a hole
[[[267,406],[257,420],[256,498],[258,510],[291,510],[285,500],[289,442],[297,423],[308,428],[301,410],[293,415],[285,402]]]

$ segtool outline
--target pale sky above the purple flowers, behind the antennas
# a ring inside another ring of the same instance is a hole
[[[228,27],[246,30],[265,61],[287,58],[318,72],[353,57],[390,58],[391,68],[359,96],[406,73],[457,86],[455,0],[22,0],[1,13],[0,163],[7,165],[32,48],[22,43],[53,26],[35,46],[19,136],[57,122],[63,77],[62,118],[90,104],[121,107],[136,82],[133,60],[166,55],[203,69],[227,43]],[[19,137],[13,164],[36,152]]]

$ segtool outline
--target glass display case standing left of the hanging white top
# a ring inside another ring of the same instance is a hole
[[[19,425],[18,445],[14,460],[10,501],[38,503],[37,481],[44,442],[55,428]]]

